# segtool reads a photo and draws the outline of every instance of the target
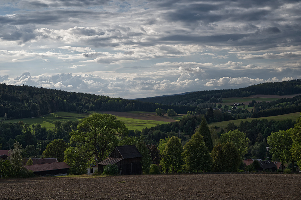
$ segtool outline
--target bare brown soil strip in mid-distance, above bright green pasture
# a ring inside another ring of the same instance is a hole
[[[102,113],[107,113],[107,114],[115,115],[118,117],[139,119],[139,120],[154,120],[154,121],[161,121],[161,122],[175,122],[176,121],[167,116],[158,116],[154,113],[148,113],[148,112],[135,114],[135,113],[127,113],[127,112],[102,111]]]

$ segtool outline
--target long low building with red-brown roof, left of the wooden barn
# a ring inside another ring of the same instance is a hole
[[[70,169],[66,162],[26,165],[24,167],[28,170],[33,170],[34,174],[40,176],[46,176],[47,174],[53,174],[54,176],[67,175]]]

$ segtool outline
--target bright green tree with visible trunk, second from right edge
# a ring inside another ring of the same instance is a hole
[[[283,171],[283,165],[289,159],[293,143],[290,133],[286,131],[273,132],[268,136],[267,142],[270,147],[269,152],[273,154],[272,160],[279,159],[282,163],[281,171]]]

